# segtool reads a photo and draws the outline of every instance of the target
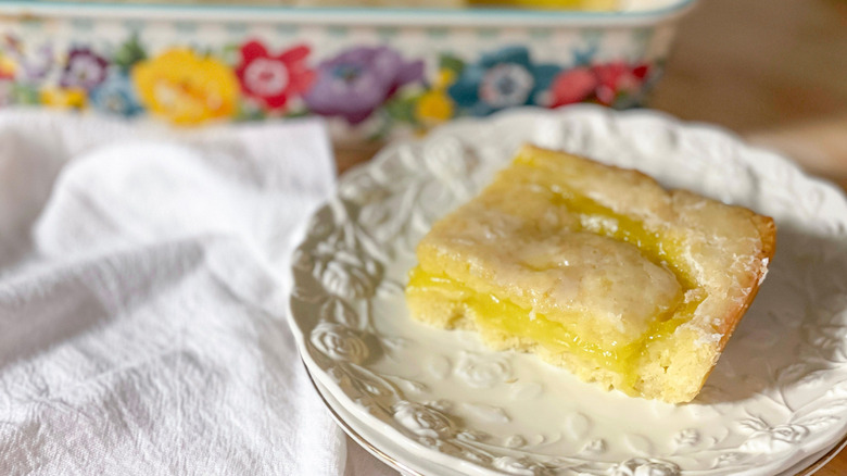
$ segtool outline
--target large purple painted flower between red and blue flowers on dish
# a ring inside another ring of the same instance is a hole
[[[388,47],[352,48],[318,64],[317,79],[304,99],[316,114],[358,124],[401,86],[422,77],[422,61],[405,61]]]

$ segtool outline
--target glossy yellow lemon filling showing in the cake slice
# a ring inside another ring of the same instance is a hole
[[[450,297],[447,299],[454,301],[453,305],[470,311],[468,314],[478,328],[530,339],[553,352],[566,351],[578,355],[601,368],[620,374],[623,378],[618,389],[636,394],[635,371],[640,360],[646,356],[647,347],[667,339],[677,327],[691,320],[705,292],[696,286],[690,270],[674,255],[678,247],[673,241],[662,239],[659,234],[646,230],[642,223],[617,214],[586,197],[558,186],[552,189],[551,204],[566,208],[579,218],[571,224],[570,233],[594,233],[636,247],[650,262],[669,267],[681,284],[683,292],[675,295],[672,303],[657,306],[643,335],[628,342],[593,341],[585,336],[596,329],[581,328],[578,320],[569,320],[567,315],[551,320],[502,296],[477,292],[445,275],[428,273],[421,266],[409,273],[406,292],[425,299]]]

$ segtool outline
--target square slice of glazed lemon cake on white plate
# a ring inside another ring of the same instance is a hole
[[[691,401],[773,256],[773,221],[524,147],[417,248],[412,315],[630,396]]]

